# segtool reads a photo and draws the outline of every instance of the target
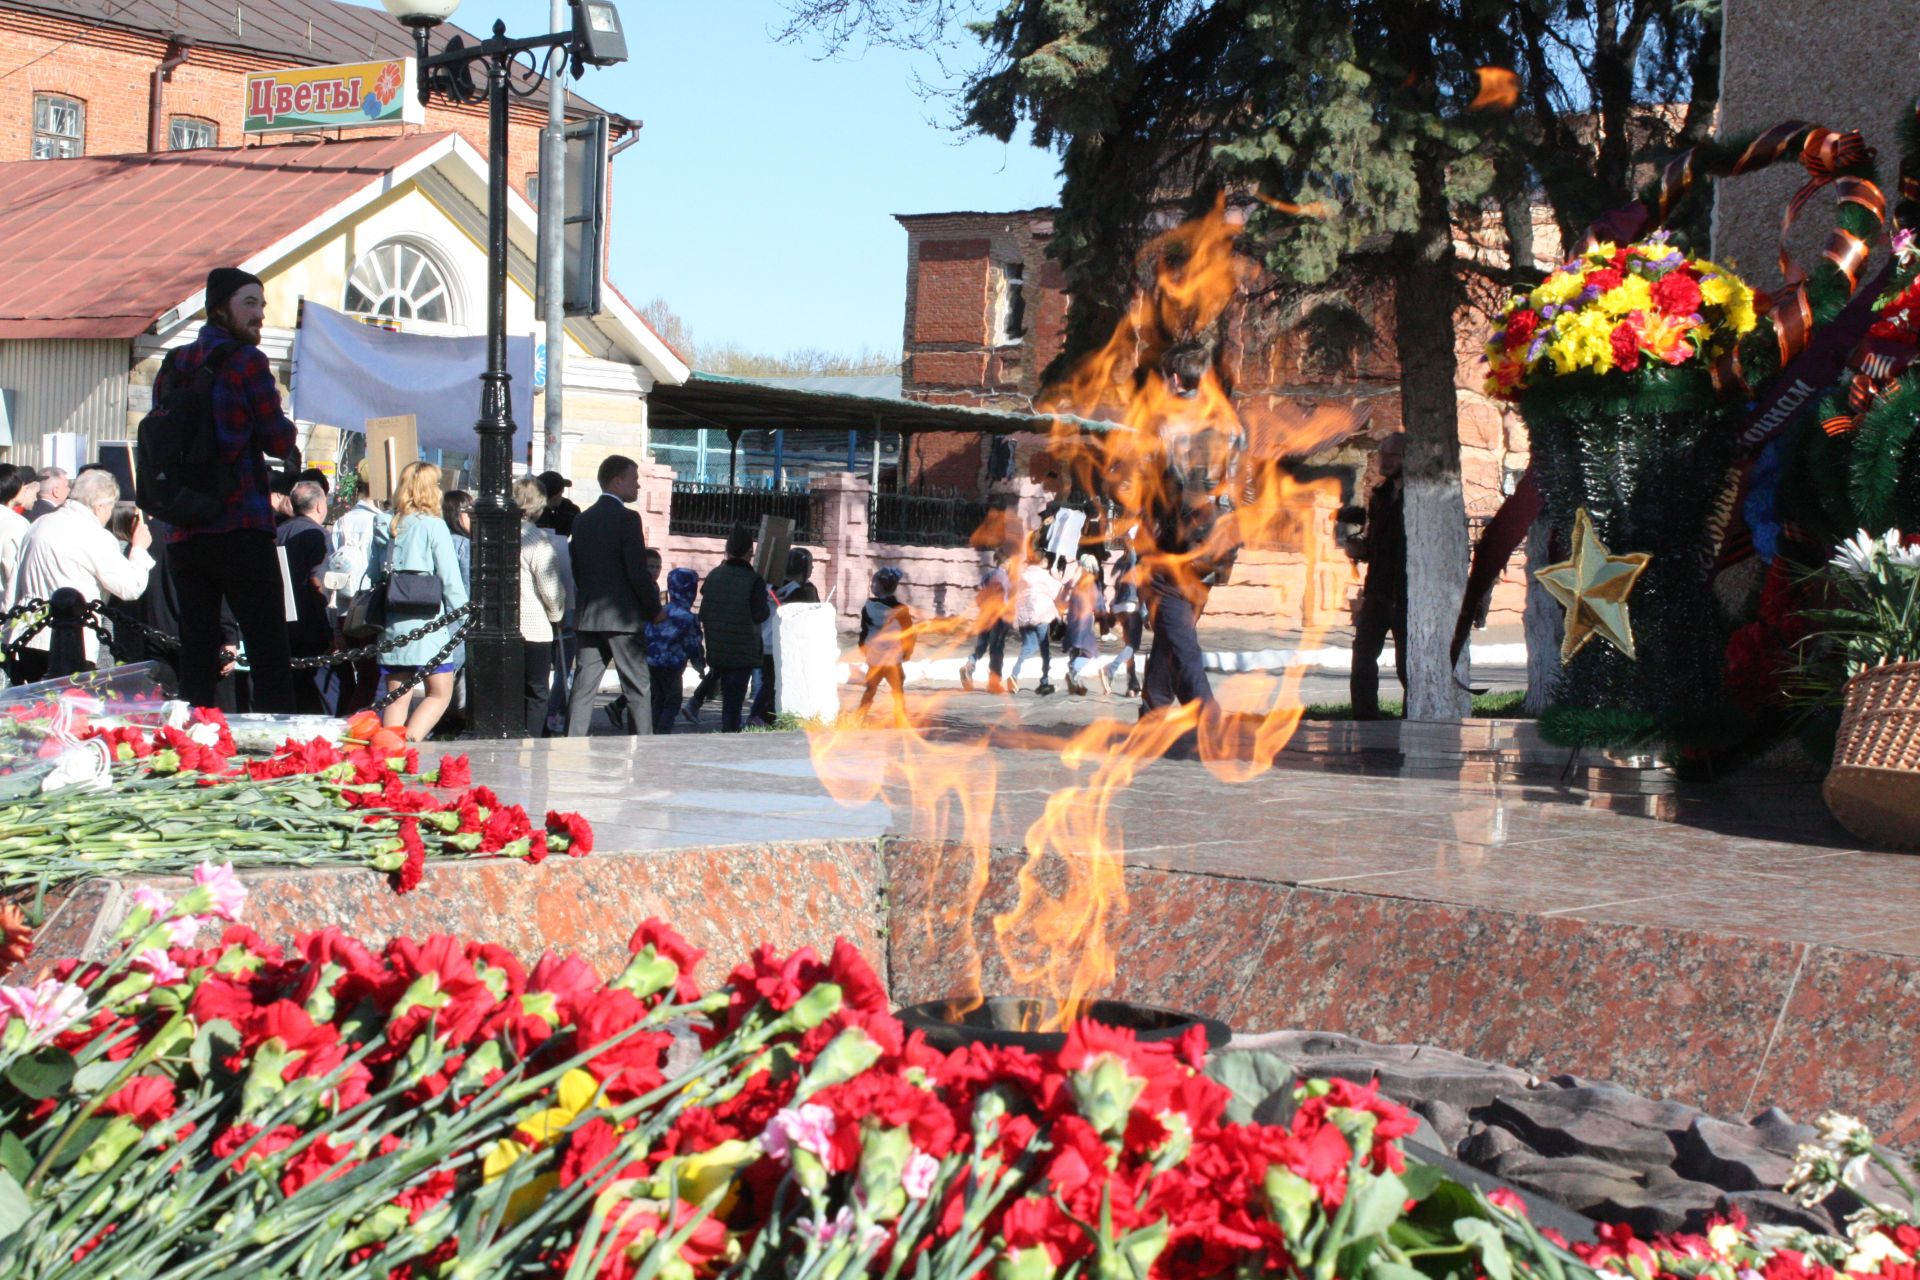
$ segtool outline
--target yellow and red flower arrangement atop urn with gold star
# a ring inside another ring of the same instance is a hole
[[[1517,399],[1540,370],[1634,372],[1644,361],[1711,363],[1759,317],[1753,290],[1667,232],[1596,244],[1526,294],[1515,294],[1486,344],[1486,393]]]

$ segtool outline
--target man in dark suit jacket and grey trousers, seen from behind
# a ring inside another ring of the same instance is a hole
[[[574,520],[572,557],[578,597],[574,689],[566,700],[566,737],[586,737],[593,723],[593,695],[609,664],[620,674],[630,708],[651,706],[647,641],[641,629],[659,620],[660,589],[647,574],[647,539],[639,512],[639,462],[614,453],[599,470],[599,501]],[[653,733],[645,714],[628,716],[630,733]]]

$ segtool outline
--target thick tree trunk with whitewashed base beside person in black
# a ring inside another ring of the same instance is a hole
[[[1471,710],[1459,672],[1448,662],[1453,620],[1467,593],[1467,501],[1459,486],[1459,401],[1455,399],[1453,225],[1444,192],[1446,163],[1415,161],[1419,230],[1402,236],[1394,292],[1400,347],[1400,413],[1407,432],[1407,720],[1459,720]]]

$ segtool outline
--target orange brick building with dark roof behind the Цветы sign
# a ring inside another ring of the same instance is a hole
[[[470,33],[442,25],[438,50]],[[324,134],[240,132],[250,71],[357,63],[413,54],[413,35],[386,10],[340,0],[0,0],[0,163],[123,155],[242,142],[313,142]],[[545,90],[515,98],[509,180],[538,194]],[[568,115],[607,115],[570,98]],[[612,115],[612,136],[637,129]],[[361,127],[351,136],[459,132],[488,150],[486,104],[436,98],[422,127]]]

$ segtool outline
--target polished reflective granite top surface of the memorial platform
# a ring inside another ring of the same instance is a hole
[[[960,837],[914,812],[902,768],[943,743],[843,735],[816,768],[797,733],[467,745],[478,781],[528,810],[576,808],[603,848],[670,850]],[[968,760],[991,842],[1020,846],[1046,798],[1089,775],[1044,741]],[[843,804],[831,791],[872,793]],[[1308,723],[1273,770],[1221,781],[1146,766],[1110,806],[1129,865],[1530,915],[1920,954],[1920,858],[1857,848],[1788,775],[1682,785],[1572,758],[1523,722]]]

